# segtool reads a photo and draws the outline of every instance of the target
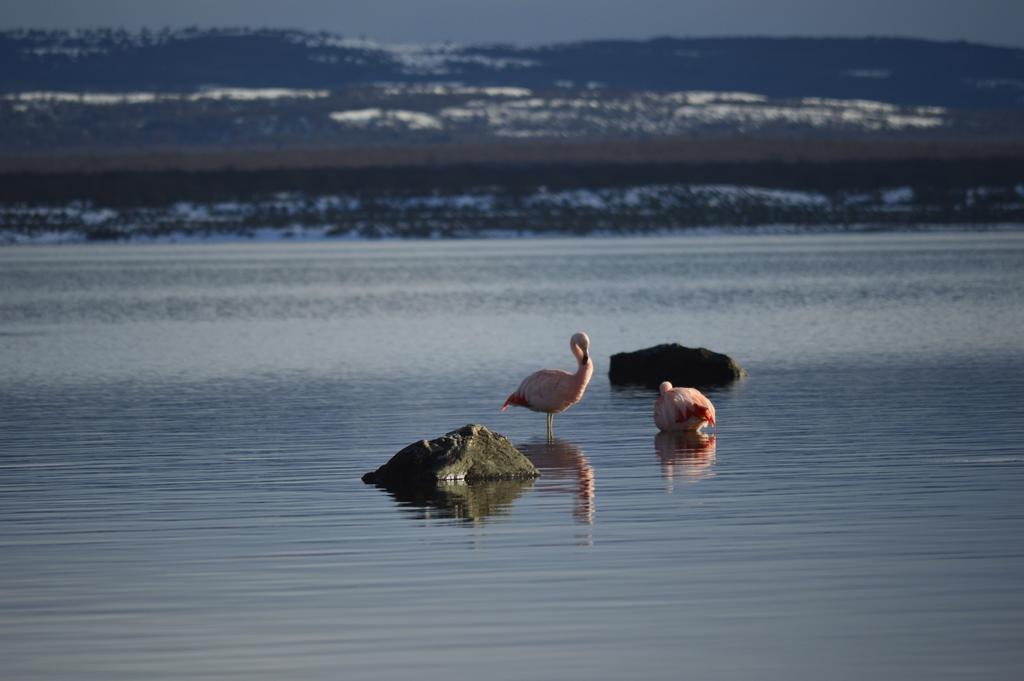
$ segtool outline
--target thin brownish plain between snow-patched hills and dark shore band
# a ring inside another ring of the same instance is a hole
[[[1024,159],[1024,137],[885,138],[826,135],[708,135],[600,140],[515,140],[379,143],[351,146],[70,148],[7,152],[0,174],[102,171],[214,171],[370,168],[462,164],[837,163],[961,159]]]

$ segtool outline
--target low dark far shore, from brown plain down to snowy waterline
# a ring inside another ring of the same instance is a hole
[[[820,140],[815,150],[813,140],[802,138],[790,150],[758,140],[736,143],[731,152],[707,145],[703,158],[694,153],[681,159],[680,148],[698,146],[675,141],[678,146],[667,146],[668,161],[651,153],[655,147],[636,143],[620,147],[632,155],[612,161],[612,142],[562,148],[574,156],[559,155],[553,144],[547,156],[539,155],[543,160],[511,160],[492,145],[475,150],[489,156],[458,162],[431,161],[422,148],[385,147],[367,151],[381,156],[353,154],[337,165],[315,162],[338,150],[306,157],[305,165],[294,151],[232,152],[197,157],[204,163],[219,158],[219,167],[6,172],[0,173],[0,243],[46,241],[48,235],[71,241],[252,237],[260,229],[373,239],[768,224],[1024,224],[1024,153],[1012,145],[844,146],[834,139]],[[401,148],[408,156],[380,162]],[[600,160],[581,160],[586,154]],[[273,159],[280,167],[269,166]],[[228,167],[237,161],[244,163]]]

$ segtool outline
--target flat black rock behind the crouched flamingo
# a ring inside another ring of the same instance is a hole
[[[721,385],[744,376],[746,371],[729,355],[679,343],[613,354],[608,368],[608,380],[613,385],[649,388],[656,388],[662,381],[676,386]]]

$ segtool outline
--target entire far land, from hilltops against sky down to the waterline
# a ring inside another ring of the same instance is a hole
[[[1024,50],[0,34],[0,245],[999,225]]]

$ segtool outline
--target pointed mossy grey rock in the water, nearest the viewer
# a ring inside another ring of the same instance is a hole
[[[509,438],[486,426],[469,424],[437,439],[410,444],[364,475],[362,481],[390,487],[438,480],[524,479],[540,474]]]

